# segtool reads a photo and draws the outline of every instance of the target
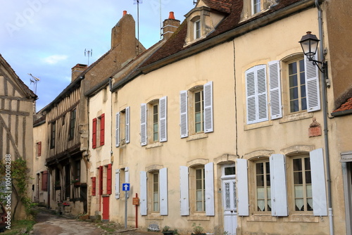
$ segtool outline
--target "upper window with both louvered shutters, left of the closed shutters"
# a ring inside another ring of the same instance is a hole
[[[180,132],[181,138],[213,132],[213,82],[180,91]]]

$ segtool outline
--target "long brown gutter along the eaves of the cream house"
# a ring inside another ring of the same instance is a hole
[[[287,15],[292,15],[299,11],[303,11],[306,8],[313,7],[314,1],[315,0],[298,1],[295,4],[282,8],[278,11],[274,11],[273,13],[270,13],[268,15],[264,15],[263,17],[260,17],[249,23],[236,27],[233,30],[230,30],[228,32],[225,32],[213,38],[210,38],[204,42],[201,42],[200,44],[196,44],[194,46],[189,47],[188,49],[177,52],[175,54],[172,54],[171,56],[168,56],[159,61],[151,63],[150,65],[146,65],[140,70],[142,70],[142,72],[146,74],[153,70],[157,70],[158,68],[162,68],[163,66],[168,65],[170,63],[180,61],[196,53],[200,53],[201,51],[210,49],[213,46],[232,40],[235,37],[240,37],[248,32],[257,30],[259,27],[263,27],[265,25],[269,25],[270,23],[274,23],[277,20],[287,17]],[[317,1],[321,1],[321,0],[317,0]]]

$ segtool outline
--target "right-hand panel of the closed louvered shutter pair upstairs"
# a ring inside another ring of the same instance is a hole
[[[258,122],[268,121],[268,91],[266,82],[266,65],[258,65]]]

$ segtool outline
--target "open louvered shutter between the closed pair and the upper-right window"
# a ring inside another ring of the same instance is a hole
[[[282,118],[280,61],[269,62],[271,119]]]

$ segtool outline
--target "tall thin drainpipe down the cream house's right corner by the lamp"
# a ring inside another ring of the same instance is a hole
[[[324,37],[322,35],[322,8],[319,1],[315,0],[315,6],[318,8],[318,23],[320,37],[320,61],[324,61]],[[325,68],[327,70],[327,68]],[[334,223],[332,215],[332,193],[331,193],[331,177],[330,177],[330,161],[329,161],[329,139],[327,136],[327,71],[320,72],[322,77],[322,112],[324,117],[324,139],[325,139],[325,161],[327,163],[327,201],[329,210],[329,228],[330,235],[334,235]]]

